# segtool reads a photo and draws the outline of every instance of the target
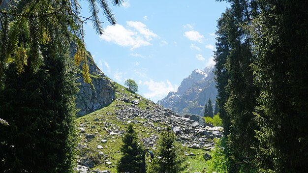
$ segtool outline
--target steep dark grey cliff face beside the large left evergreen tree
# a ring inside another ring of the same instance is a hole
[[[75,55],[74,46],[71,46],[71,56]],[[76,94],[76,108],[79,109],[77,117],[87,115],[108,106],[115,99],[113,82],[95,64],[90,52],[88,58],[92,84],[84,83],[82,67],[79,67],[78,83],[80,91]]]

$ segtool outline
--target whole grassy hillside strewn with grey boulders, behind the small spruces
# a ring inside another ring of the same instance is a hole
[[[134,124],[139,140],[146,148],[155,153],[159,133],[166,131],[168,126],[177,125],[177,119],[182,118],[180,115],[174,118],[175,115],[172,111],[159,107],[138,94],[129,92],[119,84],[114,84],[117,90],[116,98],[109,106],[77,119],[80,130],[79,163],[91,170],[109,170],[111,173],[116,173],[116,164],[121,158],[119,150],[122,144],[122,135],[125,133],[128,123]],[[156,115],[159,115],[160,118]],[[191,126],[190,123],[187,124]],[[198,131],[196,132],[198,133]],[[197,138],[196,134],[189,135],[191,138],[187,139],[188,141]],[[213,139],[211,139],[212,137],[206,139],[208,141],[205,142],[207,145],[203,145],[204,149],[191,148],[190,143],[181,140],[180,136],[183,136],[183,133],[178,134],[177,141],[185,145],[187,155],[191,152],[196,155],[188,157],[187,172],[201,172],[203,168],[207,167],[203,154],[206,152],[205,149],[209,150],[213,147],[214,136],[212,136]]]

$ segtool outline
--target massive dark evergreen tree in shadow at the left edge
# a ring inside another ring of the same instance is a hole
[[[58,30],[60,32],[60,30]],[[57,32],[57,29],[55,29]],[[61,41],[68,46],[67,41]],[[44,64],[33,74],[21,74],[10,64],[0,90],[0,167],[3,173],[73,173],[76,164],[76,70],[65,49],[50,56],[43,46]]]

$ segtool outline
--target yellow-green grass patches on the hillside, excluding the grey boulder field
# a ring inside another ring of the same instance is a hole
[[[116,84],[117,92],[121,92],[126,94],[127,96],[134,96],[131,92],[127,91],[125,87]],[[138,95],[138,94],[135,94]],[[140,96],[140,95],[138,95]],[[141,96],[140,96],[141,97]],[[121,120],[116,118],[115,111],[119,109],[116,105],[119,104],[125,104],[125,105],[131,105],[131,103],[124,103],[121,100],[117,100],[119,98],[119,94],[116,94],[116,99],[113,103],[111,103],[108,107],[102,108],[101,110],[95,111],[91,114],[82,116],[77,118],[78,125],[85,123],[85,133],[80,133],[80,144],[86,145],[86,148],[80,147],[79,155],[86,154],[88,157],[92,156],[97,158],[97,162],[100,162],[100,164],[95,165],[93,170],[99,168],[100,170],[109,170],[111,173],[116,173],[116,164],[117,161],[121,157],[121,153],[119,152],[120,146],[122,144],[121,136],[115,135],[110,136],[108,135],[108,130],[113,129],[113,127],[118,127],[120,130],[125,130],[125,127],[127,123],[123,123]],[[149,106],[150,104],[150,106]],[[139,100],[138,107],[141,109],[146,109],[146,107],[154,107],[156,106],[154,103],[151,103],[150,100],[142,98]],[[99,121],[93,121],[95,118],[99,118]],[[139,117],[135,117],[135,120],[137,120],[136,124],[134,125],[134,128],[136,132],[138,133],[139,139],[141,138],[147,138],[152,134],[158,135],[157,132],[150,131],[151,129],[145,128],[143,125],[141,125],[142,119]],[[95,126],[95,127],[92,127]],[[163,124],[154,123],[154,126],[160,126],[164,127]],[[92,140],[85,139],[85,134],[95,134],[96,137]],[[107,143],[102,144],[100,141],[102,139],[107,139]],[[97,145],[102,145],[103,149],[97,149]],[[99,152],[103,152],[104,155],[107,155],[107,158],[100,157]],[[191,149],[186,148],[186,152],[190,153],[193,152],[194,154],[197,154],[195,157],[188,157],[187,162],[189,162],[189,172],[201,172],[204,167],[206,167],[206,162],[203,159],[204,150],[202,149]],[[199,153],[199,154],[198,154]],[[112,165],[105,164],[105,160],[110,160],[112,162]]]

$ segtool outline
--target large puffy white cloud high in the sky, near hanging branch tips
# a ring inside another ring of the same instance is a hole
[[[158,37],[141,22],[127,21],[126,24],[126,28],[119,24],[107,26],[100,38],[120,46],[131,47],[131,50],[133,50],[141,46],[151,45],[150,41],[154,37]]]

